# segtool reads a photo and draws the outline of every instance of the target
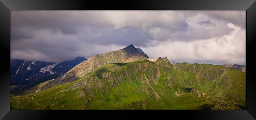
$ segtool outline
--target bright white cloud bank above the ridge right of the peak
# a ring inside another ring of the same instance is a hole
[[[245,31],[234,24],[230,35],[193,42],[166,41],[155,47],[142,47],[148,56],[156,58],[167,56],[176,62],[245,64]]]

